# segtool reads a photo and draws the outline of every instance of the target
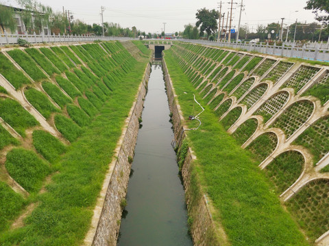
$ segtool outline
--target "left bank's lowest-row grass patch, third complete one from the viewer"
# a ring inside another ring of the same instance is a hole
[[[81,135],[82,130],[73,120],[66,118],[64,115],[55,116],[56,128],[71,143]]]

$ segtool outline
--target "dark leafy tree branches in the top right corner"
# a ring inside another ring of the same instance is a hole
[[[323,25],[329,24],[329,0],[308,0],[305,10],[313,10],[316,20]]]

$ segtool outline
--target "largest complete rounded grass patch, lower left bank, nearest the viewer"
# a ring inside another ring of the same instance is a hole
[[[49,165],[45,161],[35,152],[23,148],[15,148],[8,152],[5,168],[28,192],[39,191],[42,181],[50,173]]]

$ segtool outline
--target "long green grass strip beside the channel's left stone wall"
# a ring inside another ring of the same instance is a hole
[[[0,245],[80,245],[88,231],[104,173],[132,107],[147,60],[119,80],[114,93],[100,109],[100,115],[84,128],[77,139],[53,165],[58,170],[36,196],[40,201],[26,226],[0,234]]]

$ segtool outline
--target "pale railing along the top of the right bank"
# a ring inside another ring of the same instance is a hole
[[[328,61],[329,62],[329,49],[320,49],[319,46],[315,48],[306,48],[306,46],[297,47],[295,44],[292,46],[276,46],[267,44],[254,44],[254,43],[233,43],[233,42],[215,42],[206,40],[180,40],[182,42],[191,42],[195,44],[203,44],[208,46],[229,47],[233,49],[242,49],[245,51],[256,51],[268,55],[280,55],[284,57],[295,57],[301,59],[309,59],[314,61]]]

